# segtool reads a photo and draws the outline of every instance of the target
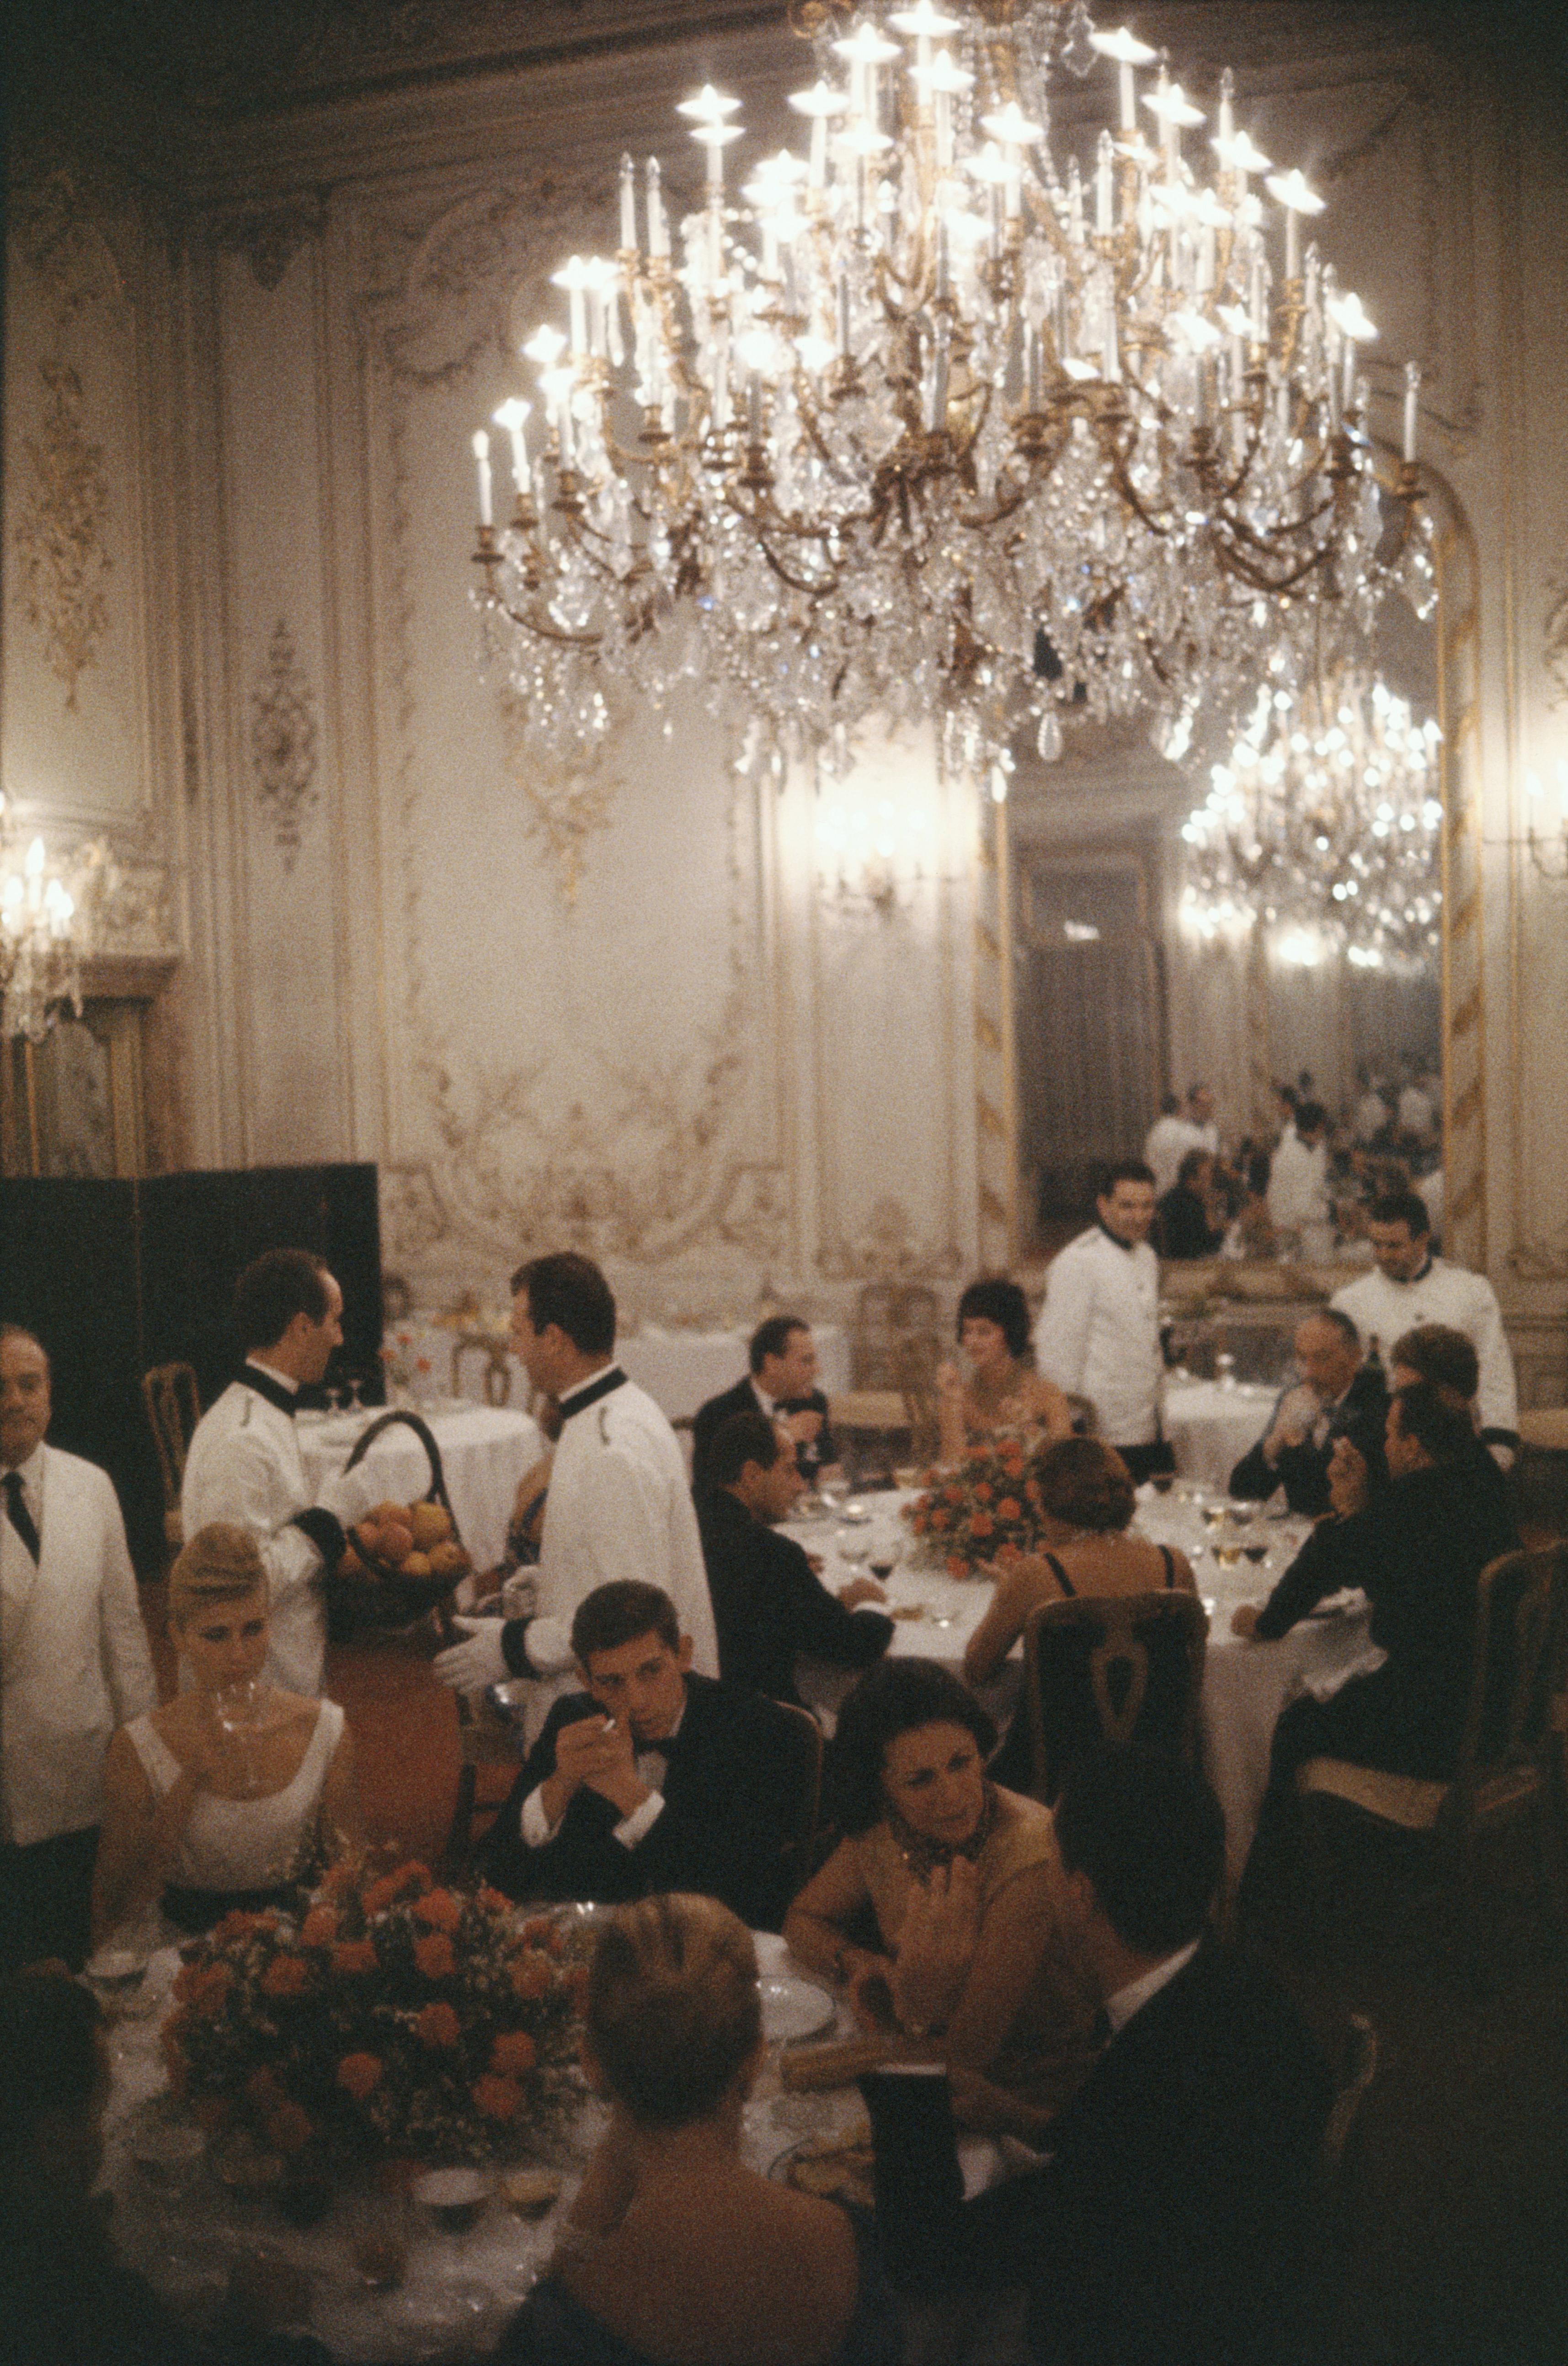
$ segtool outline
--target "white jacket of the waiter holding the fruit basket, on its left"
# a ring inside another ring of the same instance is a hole
[[[289,1386],[281,1372],[265,1365],[270,1382]],[[300,1462],[300,1439],[293,1415],[232,1379],[222,1396],[196,1422],[180,1519],[189,1543],[213,1519],[248,1528],[260,1545],[272,1609],[272,1642],[265,1675],[284,1692],[317,1696],[326,1668],[326,1599],[322,1554],[293,1514],[312,1505],[343,1524],[371,1507],[369,1481],[359,1472],[329,1479],[312,1495]]]

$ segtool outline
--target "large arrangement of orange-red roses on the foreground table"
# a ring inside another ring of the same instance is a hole
[[[497,1890],[333,1867],[298,1924],[225,1914],[184,1950],[163,2058],[208,2134],[284,2163],[494,2160],[565,2103],[584,1980]]]

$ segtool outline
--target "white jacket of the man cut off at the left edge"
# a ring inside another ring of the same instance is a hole
[[[17,1843],[97,1824],[116,1725],[158,1706],[114,1481],[57,1446],[40,1457],[38,1562],[0,1507],[0,1798]]]

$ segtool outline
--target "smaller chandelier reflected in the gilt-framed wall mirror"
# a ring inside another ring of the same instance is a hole
[[[1358,674],[1301,698],[1263,689],[1183,823],[1187,927],[1263,923],[1284,944],[1339,944],[1355,968],[1426,968],[1443,901],[1440,738]]]

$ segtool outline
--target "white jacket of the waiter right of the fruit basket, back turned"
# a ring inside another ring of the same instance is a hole
[[[525,1635],[527,1663],[544,1677],[530,1685],[525,1704],[530,1748],[570,1682],[572,1614],[613,1578],[660,1585],[674,1602],[681,1635],[691,1635],[695,1673],[719,1673],[707,1564],[679,1439],[631,1379],[575,1413],[575,1398],[601,1379],[603,1372],[594,1372],[561,1398],[563,1429],[544,1498],[534,1618]]]

